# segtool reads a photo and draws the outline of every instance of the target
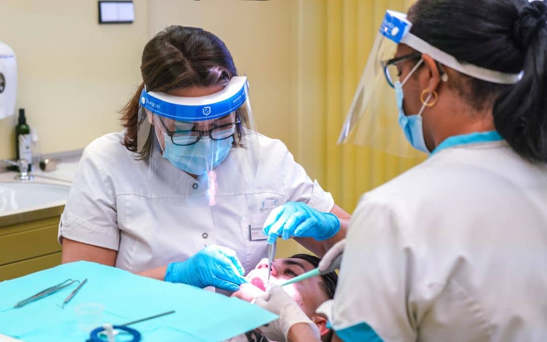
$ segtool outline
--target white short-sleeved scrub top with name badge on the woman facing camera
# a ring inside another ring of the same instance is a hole
[[[142,184],[150,179],[136,171],[144,162],[135,160],[122,140],[122,133],[107,134],[85,148],[58,238],[116,250],[115,266],[125,270],[182,262],[204,244],[232,248],[243,267],[252,270],[267,257],[267,244],[251,241],[249,225],[262,227],[272,208],[287,201],[305,202],[323,212],[334,206],[330,193],[311,181],[287,147],[263,135],[258,137],[260,157],[252,187],[240,189],[242,182],[234,175],[230,182],[217,184],[215,205],[201,207],[185,207],[184,201],[176,205],[147,193]],[[215,169],[217,175],[230,173],[237,149]],[[193,187],[199,185],[196,181]]]

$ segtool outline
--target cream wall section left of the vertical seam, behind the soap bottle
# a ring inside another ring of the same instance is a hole
[[[16,108],[26,109],[43,153],[120,130],[147,39],[148,2],[135,6],[132,25],[98,25],[96,0],[0,1],[0,41],[18,62]],[[0,120],[0,159],[15,158],[16,115]]]

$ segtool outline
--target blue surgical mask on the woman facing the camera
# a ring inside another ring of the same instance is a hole
[[[178,169],[197,176],[220,165],[228,156],[234,142],[233,136],[223,140],[201,137],[195,144],[178,146],[173,144],[170,136],[164,134],[164,137],[164,158]]]

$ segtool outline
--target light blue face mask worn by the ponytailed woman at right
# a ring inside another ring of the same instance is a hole
[[[431,94],[429,94],[429,96],[427,97],[426,102],[424,103],[418,114],[405,115],[405,111],[403,108],[403,85],[410,78],[412,73],[414,73],[416,69],[421,65],[421,63],[423,63],[423,60],[420,60],[420,62],[418,62],[416,66],[412,68],[410,73],[403,80],[403,83],[397,81],[395,82],[394,86],[395,96],[397,97],[397,108],[399,109],[399,126],[403,130],[406,140],[408,140],[412,147],[414,147],[415,149],[425,153],[430,153],[429,149],[427,149],[426,141],[423,138],[422,113],[424,109],[426,109],[426,103],[429,101]]]

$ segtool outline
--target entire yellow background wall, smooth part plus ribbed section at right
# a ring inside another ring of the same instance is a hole
[[[187,25],[224,40],[249,78],[258,130],[285,142],[346,211],[419,161],[336,144],[385,10],[411,0],[134,2],[132,25],[98,25],[96,0],[0,2],[0,41],[19,63],[17,108],[26,108],[43,153],[119,130],[117,111],[141,80],[144,44],[167,25]],[[15,120],[0,120],[2,159],[15,156]],[[278,254],[296,251],[282,243]]]

